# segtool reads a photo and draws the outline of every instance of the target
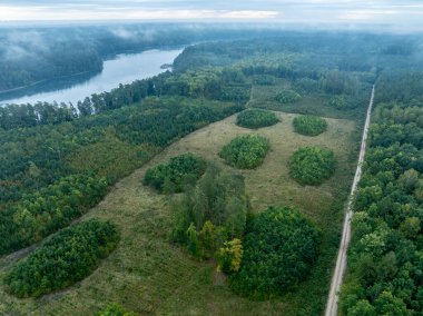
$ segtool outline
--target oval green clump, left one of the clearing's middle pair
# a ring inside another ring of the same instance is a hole
[[[226,164],[240,169],[254,169],[263,164],[269,141],[258,135],[244,135],[234,138],[219,152]]]

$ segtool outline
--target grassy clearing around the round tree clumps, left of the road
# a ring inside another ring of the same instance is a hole
[[[0,315],[90,315],[108,303],[119,303],[140,315],[319,315],[325,305],[338,246],[343,205],[355,168],[355,125],[327,119],[327,131],[306,137],[293,131],[295,115],[277,112],[281,122],[252,131],[235,125],[235,116],[197,130],[173,144],[119,181],[88,218],[110,219],[121,230],[115,253],[81,283],[40,299],[17,299],[0,286]],[[218,157],[220,148],[237,135],[257,132],[272,149],[256,170],[235,170]],[[319,187],[303,187],[291,179],[287,161],[301,146],[334,150],[335,176]],[[246,178],[254,211],[270,205],[294,205],[323,231],[322,253],[311,277],[294,293],[268,302],[250,302],[234,295],[214,263],[198,263],[169,244],[169,205],[166,196],[141,185],[147,168],[183,152],[195,152]],[[0,278],[17,255],[0,259]]]

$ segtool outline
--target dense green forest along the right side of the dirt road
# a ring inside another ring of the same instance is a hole
[[[346,315],[422,315],[422,126],[415,73],[390,72],[376,86],[380,99],[370,148],[354,201],[350,276],[341,296]],[[403,86],[405,83],[406,86]],[[410,86],[409,86],[410,85]]]

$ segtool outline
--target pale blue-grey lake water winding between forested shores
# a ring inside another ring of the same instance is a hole
[[[164,63],[173,63],[174,59],[181,51],[183,49],[155,49],[139,53],[118,55],[115,59],[106,60],[102,71],[96,76],[85,73],[81,76],[48,80],[28,89],[8,92],[7,96],[2,96],[3,100],[1,100],[0,103],[19,105],[36,103],[37,101],[57,101],[58,103],[72,102],[76,105],[79,100],[83,100],[92,93],[109,91],[118,87],[119,83],[130,83],[137,79],[154,77],[166,71],[166,69],[161,69],[160,66]],[[24,93],[23,96],[22,92]],[[20,96],[16,97],[17,95]]]

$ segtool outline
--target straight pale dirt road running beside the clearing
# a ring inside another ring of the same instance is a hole
[[[371,121],[373,99],[374,99],[374,86],[372,88],[372,96],[371,96],[371,100],[370,100],[368,109],[367,109],[367,113],[366,113],[366,121],[364,124],[362,146],[360,148],[357,169],[355,171],[353,186],[351,188],[351,194],[348,197],[348,205],[346,208],[346,214],[345,214],[345,219],[344,219],[342,239],[341,239],[340,250],[337,253],[335,273],[334,273],[333,278],[332,278],[331,292],[329,292],[329,296],[327,298],[325,316],[336,316],[337,315],[337,303],[338,303],[338,298],[340,298],[340,290],[341,290],[342,280],[343,280],[343,277],[345,274],[345,269],[346,269],[346,253],[347,253],[350,240],[351,240],[351,218],[353,216],[353,201],[354,201],[355,191],[357,189],[357,185],[358,185],[360,179],[362,177],[362,165],[363,165],[364,155],[366,151],[367,132],[368,132],[368,126],[370,126],[370,121]]]

